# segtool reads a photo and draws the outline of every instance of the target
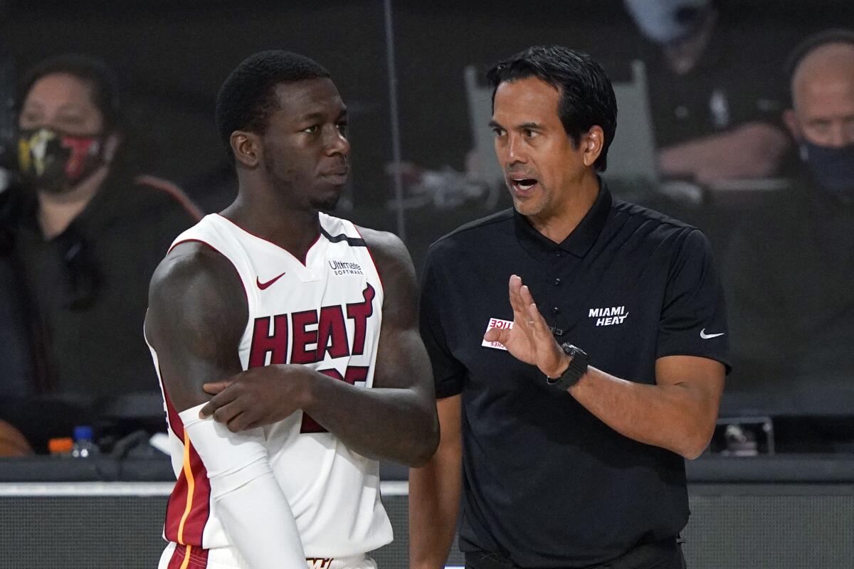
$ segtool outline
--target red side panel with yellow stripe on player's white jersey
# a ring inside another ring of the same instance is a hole
[[[163,396],[166,400],[169,427],[175,436],[184,440],[184,423],[178,416],[178,410],[169,398],[166,386],[163,386]],[[202,535],[205,525],[210,517],[211,485],[208,479],[208,470],[202,463],[202,457],[190,444],[190,472],[193,477],[193,495],[190,496],[190,481],[187,479],[186,469],[178,473],[178,480],[169,496],[166,508],[166,523],[163,525],[163,533],[166,538],[178,543],[178,546],[190,544],[198,548],[202,547]],[[190,502],[190,512],[187,513],[187,502]],[[184,520],[184,531],[179,539],[178,532],[181,520]]]

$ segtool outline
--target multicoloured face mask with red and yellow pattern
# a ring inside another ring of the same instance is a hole
[[[61,194],[91,176],[104,163],[101,135],[70,136],[42,127],[18,138],[20,175],[34,188]]]

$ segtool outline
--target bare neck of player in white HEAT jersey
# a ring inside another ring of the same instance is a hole
[[[252,235],[282,247],[296,258],[305,258],[320,234],[317,210],[295,209],[256,195],[248,198],[243,192],[219,214]]]

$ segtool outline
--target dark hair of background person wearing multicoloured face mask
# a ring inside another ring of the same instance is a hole
[[[113,131],[119,127],[119,82],[106,63],[88,55],[56,55],[28,69],[18,85],[15,113],[20,114],[32,85],[39,79],[56,73],[72,75],[90,86],[92,102],[103,118],[104,131]]]

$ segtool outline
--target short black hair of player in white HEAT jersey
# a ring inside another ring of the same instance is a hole
[[[231,72],[216,100],[216,125],[232,162],[231,133],[263,135],[267,120],[278,109],[276,85],[330,77],[317,61],[290,51],[261,51]]]

